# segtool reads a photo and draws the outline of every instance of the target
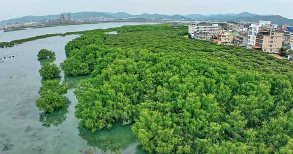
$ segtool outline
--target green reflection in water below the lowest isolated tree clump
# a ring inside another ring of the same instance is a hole
[[[42,126],[49,128],[51,126],[59,126],[66,120],[66,114],[68,113],[68,107],[70,105],[70,101],[66,98],[65,105],[55,110],[53,113],[40,113],[40,122]]]

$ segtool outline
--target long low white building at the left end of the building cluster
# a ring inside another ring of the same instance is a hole
[[[189,33],[209,33],[209,35],[214,35],[219,33],[221,27],[219,24],[207,24],[207,23],[191,23],[188,26],[188,32]]]

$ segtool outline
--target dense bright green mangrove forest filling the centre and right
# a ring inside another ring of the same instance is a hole
[[[107,35],[105,45],[75,40],[68,46],[66,63],[79,60],[92,72],[74,91],[80,127],[95,132],[113,122],[133,124],[149,153],[292,151],[291,63],[188,40],[180,35],[186,27],[109,30],[119,34]]]

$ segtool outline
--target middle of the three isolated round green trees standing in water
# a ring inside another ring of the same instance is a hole
[[[45,80],[60,77],[60,69],[56,64],[45,63],[39,72],[42,78]]]

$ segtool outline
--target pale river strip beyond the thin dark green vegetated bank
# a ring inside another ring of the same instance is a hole
[[[3,32],[0,31],[0,42],[10,42],[13,40],[19,40],[27,37],[34,37],[44,34],[53,33],[66,33],[73,31],[84,31],[93,30],[98,28],[109,28],[109,27],[120,27],[124,25],[138,25],[138,24],[148,24],[139,22],[112,22],[112,23],[97,23],[97,24],[81,24],[81,25],[67,25],[67,26],[56,26],[56,27],[45,27],[45,28],[29,28],[26,30]]]

